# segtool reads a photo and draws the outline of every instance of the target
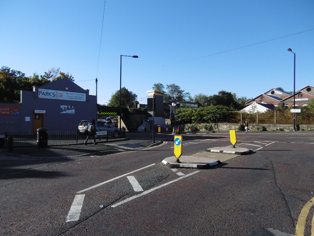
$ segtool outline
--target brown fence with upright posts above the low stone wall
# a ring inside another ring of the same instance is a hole
[[[272,110],[264,113],[246,113],[246,112],[230,112],[228,123],[245,123],[249,124],[292,124],[293,114],[290,110]],[[313,125],[314,110],[303,110],[296,114],[296,124]]]

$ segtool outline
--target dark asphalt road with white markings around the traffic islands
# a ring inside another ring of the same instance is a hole
[[[158,134],[143,150],[39,163],[0,176],[0,234],[313,235],[313,139],[239,132],[236,146],[256,151],[202,170],[162,165],[173,136]],[[183,155],[229,145],[228,133],[183,134]]]

